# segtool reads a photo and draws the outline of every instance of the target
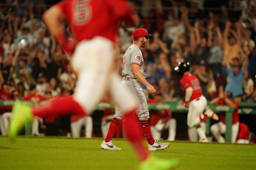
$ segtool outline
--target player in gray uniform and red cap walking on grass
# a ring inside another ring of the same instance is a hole
[[[144,60],[140,48],[146,47],[148,42],[148,37],[151,37],[152,34],[148,34],[147,30],[144,28],[138,28],[133,31],[133,44],[130,46],[123,58],[123,72],[122,77],[123,81],[121,84],[132,91],[133,95],[137,98],[137,102],[139,103],[137,109],[137,115],[140,121],[140,128],[144,137],[148,140],[148,150],[156,151],[159,149],[165,149],[169,146],[169,143],[162,143],[156,141],[150,131],[150,126],[148,123],[149,112],[146,96],[142,90],[141,85],[145,85],[150,94],[154,94],[156,92],[155,88],[151,86],[147,80],[146,76],[143,75],[143,66]],[[122,110],[117,108],[116,115],[109,125],[109,130],[107,137],[101,144],[102,149],[113,149],[108,145],[108,142],[112,141],[112,138],[116,132],[116,129],[120,125],[123,120]],[[116,150],[121,150],[120,148],[116,148]]]

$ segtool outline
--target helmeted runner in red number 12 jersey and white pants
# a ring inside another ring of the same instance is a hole
[[[196,128],[196,132],[199,136],[199,142],[208,142],[204,129],[200,126],[200,122],[205,120],[207,117],[214,120],[219,120],[219,117],[211,109],[206,109],[207,101],[202,94],[198,78],[190,73],[190,64],[188,62],[179,62],[178,66],[174,70],[182,75],[180,85],[185,93],[184,105],[185,107],[188,107],[188,127]]]

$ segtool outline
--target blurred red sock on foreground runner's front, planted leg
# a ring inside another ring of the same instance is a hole
[[[138,116],[135,111],[132,110],[124,115],[124,119],[124,130],[127,139],[132,143],[140,161],[146,160],[149,156],[149,152],[142,142],[142,133],[138,122]]]

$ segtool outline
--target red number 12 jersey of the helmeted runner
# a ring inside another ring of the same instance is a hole
[[[180,79],[180,85],[186,95],[186,89],[192,87],[193,93],[189,101],[199,98],[203,95],[200,82],[193,74],[184,74]]]

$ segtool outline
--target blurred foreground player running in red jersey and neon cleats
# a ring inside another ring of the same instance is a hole
[[[34,107],[16,102],[10,137],[15,137],[33,116],[91,114],[102,95],[108,92],[124,113],[126,136],[140,158],[140,169],[168,169],[177,165],[176,160],[150,156],[142,142],[138,119],[135,119],[137,104],[112,71],[119,21],[136,26],[137,18],[124,0],[66,0],[48,9],[43,16],[46,26],[63,50],[73,57],[71,64],[78,74],[76,92],[74,97],[60,97]],[[65,37],[62,21],[67,21],[77,45]]]

